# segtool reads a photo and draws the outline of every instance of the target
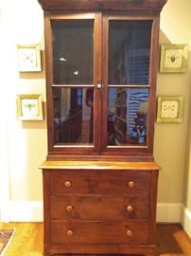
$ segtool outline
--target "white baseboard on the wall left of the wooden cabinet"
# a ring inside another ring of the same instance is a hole
[[[43,222],[43,202],[10,201],[9,222]]]

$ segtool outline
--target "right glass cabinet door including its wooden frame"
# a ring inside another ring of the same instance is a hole
[[[105,16],[103,21],[102,151],[127,155],[148,150],[152,95],[153,20]],[[105,114],[107,113],[107,114]]]

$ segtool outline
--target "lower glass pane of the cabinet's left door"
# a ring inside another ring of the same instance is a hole
[[[93,143],[92,88],[53,88],[55,144]]]

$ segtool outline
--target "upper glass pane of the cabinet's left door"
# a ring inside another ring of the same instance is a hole
[[[52,22],[53,83],[93,84],[94,21]]]

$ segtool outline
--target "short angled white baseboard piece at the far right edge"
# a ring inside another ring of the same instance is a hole
[[[181,208],[181,224],[182,228],[186,231],[191,238],[191,211],[182,205]]]

